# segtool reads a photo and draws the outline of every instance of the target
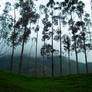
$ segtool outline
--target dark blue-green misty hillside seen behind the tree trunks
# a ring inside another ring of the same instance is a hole
[[[67,58],[63,57],[63,74],[68,74],[68,62]],[[9,64],[10,63],[10,55],[0,57],[0,69],[9,71]],[[42,57],[38,58],[38,75],[43,75],[43,60]],[[54,57],[54,65],[55,65],[55,75],[59,76],[59,57]],[[18,64],[19,64],[19,56],[14,57],[14,63],[13,63],[13,71],[18,71]],[[92,73],[92,63],[88,63],[89,66],[89,73]],[[79,63],[79,70],[80,73],[85,73],[85,64]],[[28,74],[28,75],[34,75],[35,71],[35,59],[33,57],[28,57],[26,55],[23,56],[23,66],[22,66],[22,74]],[[76,62],[74,60],[71,60],[71,72],[76,73]],[[47,76],[50,76],[51,74],[51,58],[45,57],[45,74]]]

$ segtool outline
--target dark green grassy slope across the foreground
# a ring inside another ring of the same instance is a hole
[[[34,78],[0,71],[0,92],[92,92],[92,74]]]

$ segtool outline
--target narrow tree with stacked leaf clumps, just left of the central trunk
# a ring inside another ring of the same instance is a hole
[[[43,23],[43,31],[42,31],[42,41],[43,46],[41,48],[41,55],[43,56],[43,75],[45,75],[45,56],[46,56],[46,41],[50,40],[49,28],[51,27],[51,23],[49,21],[48,9],[46,6],[41,5],[40,8],[43,8],[44,18],[42,19]]]

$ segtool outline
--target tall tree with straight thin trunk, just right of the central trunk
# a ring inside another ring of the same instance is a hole
[[[53,16],[54,24],[59,26],[56,30],[55,40],[60,42],[60,75],[62,75],[62,31],[63,27],[67,24],[66,15],[63,12],[63,2],[56,2],[57,7],[54,10],[59,11],[58,15]]]

